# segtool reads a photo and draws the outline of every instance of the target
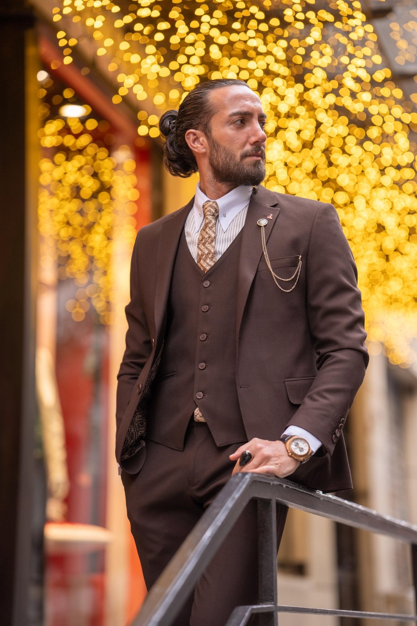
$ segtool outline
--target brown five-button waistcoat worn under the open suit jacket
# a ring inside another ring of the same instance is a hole
[[[218,446],[246,438],[234,369],[240,242],[241,233],[204,273],[189,252],[184,232],[181,235],[147,418],[148,438],[165,446],[183,448],[196,405]]]

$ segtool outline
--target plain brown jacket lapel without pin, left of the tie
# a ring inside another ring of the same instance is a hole
[[[191,198],[185,207],[174,213],[171,219],[166,220],[159,236],[158,260],[156,270],[155,290],[155,340],[157,346],[161,343],[161,331],[166,319],[166,305],[168,302],[169,285],[174,269],[175,255],[178,249],[179,238],[184,224],[194,204]],[[157,351],[156,351],[157,353]]]

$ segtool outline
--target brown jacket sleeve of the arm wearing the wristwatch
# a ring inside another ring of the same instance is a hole
[[[338,214],[323,204],[314,218],[306,259],[308,321],[318,372],[287,427],[308,430],[329,454],[369,360],[357,280]]]

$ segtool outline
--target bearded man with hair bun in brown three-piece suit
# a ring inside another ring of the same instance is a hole
[[[265,120],[238,80],[160,120],[169,172],[199,184],[133,250],[116,455],[148,588],[234,472],[351,487],[341,431],[368,363],[356,267],[331,205],[260,185]],[[251,503],[176,626],[257,602],[256,537]]]

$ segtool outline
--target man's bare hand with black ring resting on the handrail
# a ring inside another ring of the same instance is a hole
[[[239,457],[248,450],[252,454],[249,463],[243,467],[239,466]],[[257,474],[273,474],[278,478],[285,478],[295,471],[300,461],[288,456],[287,449],[283,441],[268,441],[267,439],[251,439],[248,443],[240,446],[229,459],[236,461],[233,474],[239,471],[251,471]]]

